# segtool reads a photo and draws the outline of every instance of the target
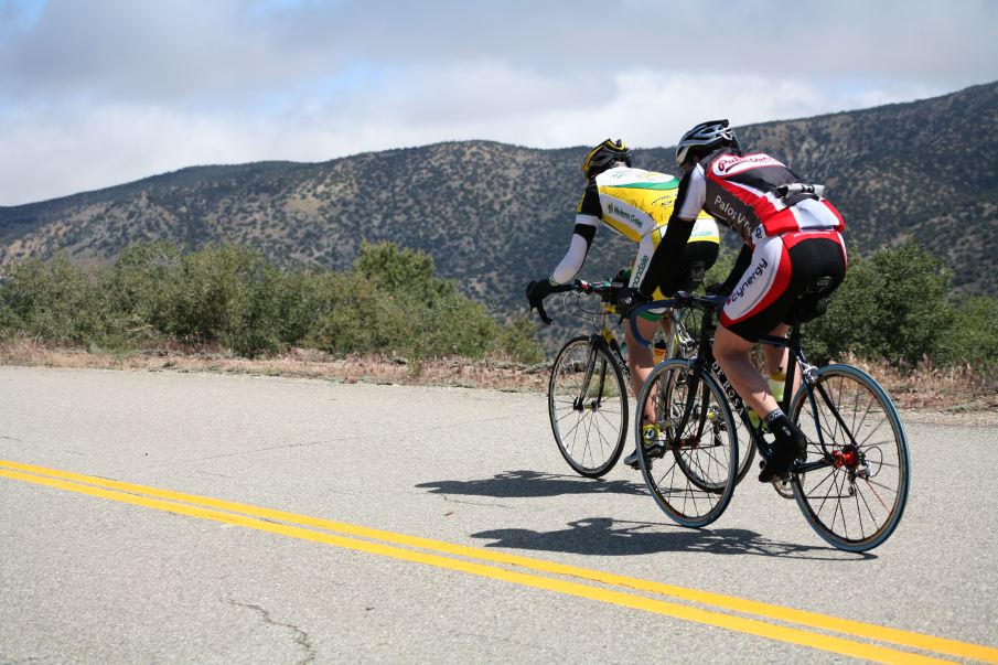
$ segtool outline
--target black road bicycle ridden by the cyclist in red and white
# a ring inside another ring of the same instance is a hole
[[[825,541],[866,551],[890,537],[904,512],[908,441],[890,397],[872,377],[851,365],[816,367],[807,362],[801,324],[808,319],[805,309],[820,302],[823,287],[827,285],[814,285],[812,293],[798,300],[787,337],[760,340],[790,351],[780,406],[808,442],[806,455],[774,484],[796,500]],[[637,397],[640,408],[654,415],[658,431],[655,440],[638,437],[642,475],[658,506],[690,527],[710,524],[731,501],[740,469],[737,422],[763,461],[772,454],[772,435],[758,419],[753,423],[713,357],[712,332],[722,300],[679,293],[635,310],[672,307],[700,315],[695,355],[656,365]],[[633,321],[632,315],[632,330],[641,340]]]

